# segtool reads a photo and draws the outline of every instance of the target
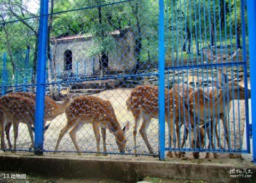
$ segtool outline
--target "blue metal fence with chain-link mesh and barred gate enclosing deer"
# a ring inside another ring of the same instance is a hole
[[[226,157],[223,153],[230,157],[251,153],[248,99],[253,104],[253,1],[247,6],[243,0],[68,1],[68,7],[40,2],[36,16],[21,20],[6,17],[0,22],[12,30],[24,26],[25,21],[31,30],[20,35],[26,43],[19,45],[20,49],[30,45],[22,82],[18,81],[21,68],[13,73],[16,82],[5,82],[6,63],[10,67],[15,60],[10,49],[1,64],[4,97],[0,98],[0,115],[17,110],[3,107],[6,98],[13,102],[16,97],[35,110],[34,122],[13,117],[1,127],[1,149],[31,151],[27,149],[28,134],[33,136],[34,129],[35,154],[125,153],[159,155],[164,160],[166,151],[170,157],[172,152],[178,156],[193,152],[195,158],[199,153],[206,153],[206,157],[209,153],[214,157],[216,153],[221,157]],[[28,39],[31,34],[33,38]],[[29,90],[29,95],[5,95],[7,90],[10,93],[19,88]],[[130,121],[130,130],[126,121]],[[13,130],[15,142],[20,122],[28,130],[21,127],[17,149],[11,148],[9,139],[6,148],[3,131],[10,136]],[[100,127],[103,148],[99,146]],[[65,135],[68,131],[70,137]]]

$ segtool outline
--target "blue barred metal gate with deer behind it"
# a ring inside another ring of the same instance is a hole
[[[167,155],[250,153],[245,6],[244,1],[166,1],[162,138]]]

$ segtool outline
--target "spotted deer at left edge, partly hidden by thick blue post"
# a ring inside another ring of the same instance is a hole
[[[1,126],[1,148],[5,149],[4,129],[7,123],[13,123],[14,131],[14,149],[16,149],[16,140],[18,137],[18,124],[20,122],[27,124],[32,145],[34,146],[33,131],[30,127],[34,126],[35,121],[35,102],[33,99],[20,95],[5,95],[0,98],[0,110],[2,112]],[[46,130],[49,126],[46,126]]]

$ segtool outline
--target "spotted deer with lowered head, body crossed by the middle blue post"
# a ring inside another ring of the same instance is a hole
[[[169,93],[168,93],[169,92]],[[157,86],[137,86],[134,88],[126,101],[128,111],[132,112],[135,120],[133,138],[134,138],[134,153],[137,153],[136,148],[136,135],[137,128],[140,119],[142,118],[142,125],[140,127],[140,134],[147,145],[148,151],[154,154],[153,148],[150,146],[147,138],[147,129],[149,127],[152,118],[158,119],[158,87]],[[168,111],[169,109],[169,111]],[[170,120],[169,134],[175,146],[175,132],[174,132],[174,122],[179,125],[179,118],[182,124],[189,129],[191,138],[196,139],[199,142],[201,139],[202,144],[191,143],[193,148],[200,148],[204,146],[204,129],[201,128],[201,134],[198,134],[197,126],[193,126],[193,117],[187,111],[187,107],[183,107],[183,102],[179,103],[179,94],[173,92],[172,90],[165,89],[165,121]],[[175,121],[174,121],[175,120]],[[190,121],[190,122],[189,122]],[[179,134],[179,128],[176,128],[176,133]],[[196,130],[196,137],[194,137],[194,130]],[[179,148],[179,135],[177,136],[178,148]],[[195,142],[195,140],[193,141]],[[175,156],[177,153],[174,152]],[[168,152],[167,156],[173,157],[171,152]],[[194,152],[193,156],[195,158],[199,157],[199,153]]]

